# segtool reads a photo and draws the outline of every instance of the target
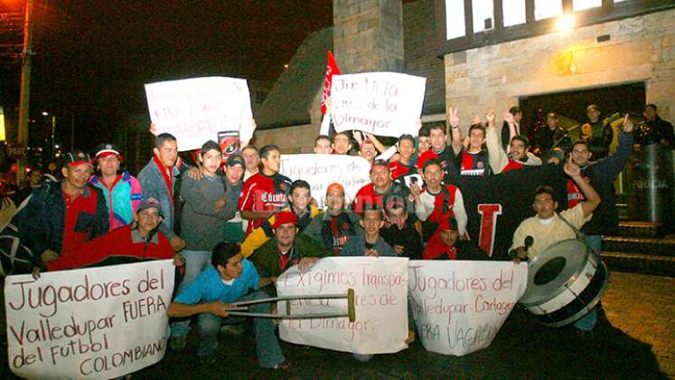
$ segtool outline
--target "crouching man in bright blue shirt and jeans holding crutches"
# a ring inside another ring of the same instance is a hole
[[[197,318],[200,337],[197,356],[202,364],[214,363],[213,355],[218,347],[218,333],[223,318],[228,317],[229,303],[244,300],[264,299],[267,295],[261,287],[273,284],[275,277],[260,278],[256,267],[244,259],[239,245],[220,242],[211,253],[211,266],[202,271],[169,306],[169,317]],[[248,290],[256,290],[248,293]],[[269,303],[249,307],[256,313],[269,313]],[[289,367],[281,353],[281,347],[272,320],[254,318],[256,326],[256,353],[258,363],[264,368],[286,369]]]

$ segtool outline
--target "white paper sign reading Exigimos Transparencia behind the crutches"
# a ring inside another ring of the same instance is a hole
[[[406,347],[408,337],[408,259],[335,257],[317,261],[309,271],[297,267],[277,279],[280,296],[355,293],[356,320],[284,319],[279,335],[287,342],[357,354],[389,354]],[[279,313],[286,312],[284,302]],[[345,299],[291,302],[292,314],[346,312]]]

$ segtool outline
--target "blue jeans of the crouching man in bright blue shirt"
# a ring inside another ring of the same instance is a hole
[[[265,299],[267,293],[264,291],[256,291],[250,293],[241,299]],[[249,305],[248,310],[254,313],[269,313],[269,303],[258,303]],[[209,356],[218,347],[218,333],[220,326],[225,318],[220,318],[211,313],[202,313],[197,318],[197,333],[199,334],[199,347],[197,348],[198,356]],[[275,334],[275,327],[270,318],[253,318],[253,324],[256,328],[256,354],[258,354],[258,363],[264,368],[274,368],[283,363],[284,355],[281,353],[279,341]]]

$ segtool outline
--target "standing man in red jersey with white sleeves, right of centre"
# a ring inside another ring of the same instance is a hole
[[[464,198],[462,192],[455,185],[442,183],[443,169],[438,160],[427,161],[422,168],[425,186],[420,188],[414,184],[410,192],[415,199],[415,214],[422,221],[422,238],[427,242],[437,225],[442,223],[448,216],[454,216],[457,220],[460,236],[466,233],[468,217],[464,210]]]

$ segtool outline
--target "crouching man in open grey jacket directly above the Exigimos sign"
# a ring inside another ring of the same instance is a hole
[[[378,204],[365,204],[361,213],[362,236],[354,236],[344,244],[341,256],[397,256],[391,246],[380,237],[384,215]]]

